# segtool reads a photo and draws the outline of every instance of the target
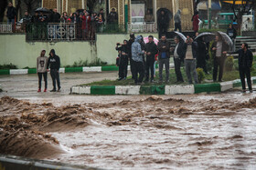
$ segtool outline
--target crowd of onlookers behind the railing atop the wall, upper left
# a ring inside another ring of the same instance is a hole
[[[16,8],[10,2],[7,8],[6,16],[8,18],[7,24],[12,24],[15,30],[16,21]],[[107,15],[105,19],[104,10],[101,9],[99,13],[90,12],[87,10],[77,10],[75,13],[70,15],[67,12],[63,12],[62,15],[59,14],[57,8],[53,10],[36,10],[35,15],[31,16],[26,11],[22,17],[21,29],[27,32],[27,24],[35,24],[40,27],[39,32],[47,33],[44,25],[47,24],[75,24],[77,30],[77,39],[95,39],[96,32],[102,32],[103,26],[107,23],[108,25],[118,24],[118,14],[115,8],[112,8],[110,14]],[[37,31],[38,32],[38,31]]]

